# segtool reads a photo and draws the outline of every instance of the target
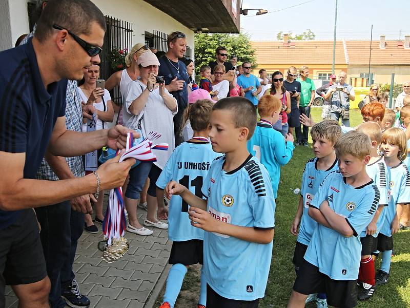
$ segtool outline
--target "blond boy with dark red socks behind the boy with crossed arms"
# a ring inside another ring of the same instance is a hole
[[[387,183],[388,172],[383,158],[378,153],[378,147],[381,143],[382,131],[380,126],[375,122],[365,122],[360,124],[357,131],[366,134],[372,141],[372,151],[370,161],[366,165],[367,175],[375,182],[380,191],[379,204],[376,214],[368,226],[360,234],[362,244],[362,256],[360,259],[358,299],[365,300],[372,297],[376,291],[375,280],[375,262],[372,253],[377,249],[377,236],[380,228],[384,223],[387,206]]]

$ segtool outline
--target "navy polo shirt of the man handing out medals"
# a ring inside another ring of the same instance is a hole
[[[0,63],[0,151],[25,152],[23,177],[34,179],[54,124],[65,115],[67,80],[45,88],[31,38],[0,52]],[[11,225],[18,213],[0,210],[0,230]]]

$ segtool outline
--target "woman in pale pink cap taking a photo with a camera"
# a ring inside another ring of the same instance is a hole
[[[157,161],[154,163],[140,163],[130,170],[130,180],[125,192],[125,205],[128,211],[128,232],[139,235],[151,235],[153,232],[144,226],[168,229],[168,224],[156,218],[157,199],[156,186],[163,167],[175,148],[173,117],[178,111],[177,101],[165,88],[165,83],[157,83],[159,62],[151,51],[142,53],[138,57],[140,79],[130,82],[125,93],[125,103],[122,106],[124,126],[141,129],[142,133],[155,130],[161,134],[158,143],[168,143],[167,151],[155,151]],[[144,182],[150,179],[148,188],[148,214],[144,226],[137,219],[137,204]],[[163,196],[160,196],[161,198]],[[160,219],[166,218],[166,213],[158,211]]]

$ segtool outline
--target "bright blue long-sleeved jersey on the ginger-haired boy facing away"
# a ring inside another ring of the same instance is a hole
[[[278,194],[280,166],[286,165],[292,158],[295,146],[293,142],[285,142],[282,134],[273,129],[268,121],[259,122],[255,132],[248,141],[248,151],[254,155],[269,172],[273,195]]]

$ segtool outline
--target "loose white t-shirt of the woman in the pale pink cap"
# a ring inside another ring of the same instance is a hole
[[[146,87],[147,86],[139,80],[128,84],[125,104],[122,105],[122,122],[126,127],[137,129],[138,122],[141,117],[143,117],[141,120],[141,129],[144,136],[147,136],[147,133],[151,130],[155,130],[161,134],[161,137],[155,140],[154,143],[168,143],[168,150],[155,150],[154,153],[157,157],[157,161],[154,162],[154,164],[160,169],[163,169],[170,158],[172,151],[175,149],[173,118],[178,112],[178,105],[168,90],[165,89],[166,95],[169,95],[175,101],[175,106],[177,108],[175,111],[171,111],[161,98],[161,95],[159,95],[159,88],[155,87],[155,89],[148,95],[147,103],[144,108],[142,108],[141,112],[137,115],[132,114],[128,108],[131,106],[132,102],[141,95]]]

